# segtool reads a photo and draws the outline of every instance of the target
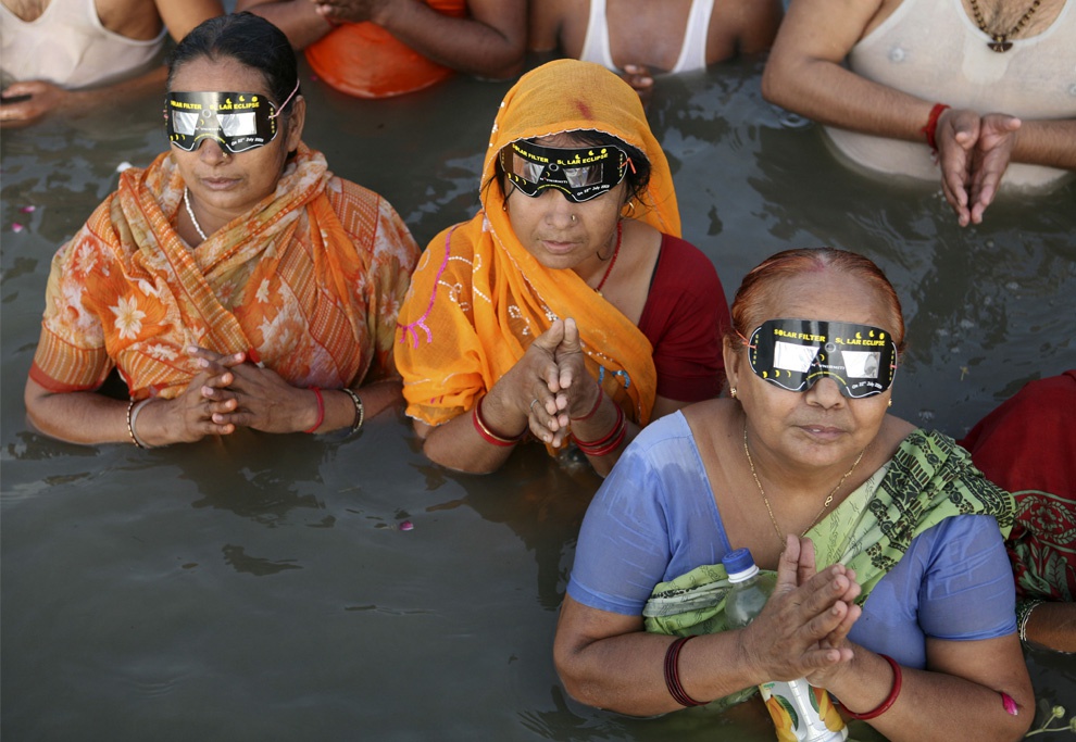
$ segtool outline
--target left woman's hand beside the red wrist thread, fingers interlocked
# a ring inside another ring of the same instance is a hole
[[[230,355],[220,355],[204,348],[197,355],[222,363]],[[232,424],[263,432],[297,432],[311,428],[317,419],[317,401],[314,392],[298,389],[268,368],[245,362],[232,366],[235,377],[226,389],[213,390],[217,402],[235,400],[230,412],[213,414],[218,425]]]

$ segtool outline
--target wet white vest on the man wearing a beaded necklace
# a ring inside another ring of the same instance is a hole
[[[984,113],[1034,118],[1076,118],[1076,0],[1037,36],[1013,39],[999,53],[990,37],[967,17],[961,0],[904,0],[849,54],[863,77],[928,101]],[[926,122],[924,122],[926,123]],[[886,139],[826,128],[852,162],[886,174],[938,181],[940,174],[923,142]],[[1076,142],[1073,143],[1076,147]],[[1012,163],[1002,187],[1049,189],[1067,171]]]

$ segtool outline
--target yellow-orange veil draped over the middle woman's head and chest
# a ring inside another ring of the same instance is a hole
[[[650,341],[575,272],[546,268],[527,252],[493,177],[509,142],[574,129],[605,131],[647,155],[652,174],[636,218],[679,236],[672,174],[638,93],[601,65],[577,60],[524,75],[493,123],[483,211],[434,238],[400,310],[396,357],[412,417],[440,425],[471,410],[553,319],[574,317],[587,370],[630,419],[650,420],[656,386]]]

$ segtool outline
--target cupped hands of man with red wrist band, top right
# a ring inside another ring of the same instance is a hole
[[[935,140],[941,167],[941,190],[960,226],[980,224],[1009,167],[1021,121],[1004,113],[947,109],[938,118]]]

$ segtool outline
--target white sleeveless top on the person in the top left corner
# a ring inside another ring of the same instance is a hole
[[[77,89],[133,77],[159,61],[166,30],[149,41],[101,25],[93,0],[51,0],[27,23],[0,4],[3,84],[46,80]]]

